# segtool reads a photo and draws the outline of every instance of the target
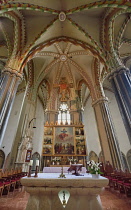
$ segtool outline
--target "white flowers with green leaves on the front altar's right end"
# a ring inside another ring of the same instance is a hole
[[[87,165],[89,166],[89,171],[91,174],[102,174],[100,171],[101,163],[95,163],[94,160],[88,161]]]

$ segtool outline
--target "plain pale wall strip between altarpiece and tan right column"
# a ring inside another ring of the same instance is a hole
[[[99,135],[97,131],[94,109],[91,105],[91,98],[89,98],[86,103],[86,107],[83,113],[83,121],[88,155],[90,151],[94,151],[99,156],[99,153],[101,152],[101,146],[99,143]]]

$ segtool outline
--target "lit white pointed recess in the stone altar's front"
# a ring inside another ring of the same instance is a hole
[[[59,199],[60,199],[60,201],[62,203],[63,208],[65,208],[66,205],[67,205],[67,202],[69,200],[69,197],[70,197],[69,191],[67,191],[67,190],[61,190],[58,193],[58,197],[59,197]]]

